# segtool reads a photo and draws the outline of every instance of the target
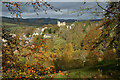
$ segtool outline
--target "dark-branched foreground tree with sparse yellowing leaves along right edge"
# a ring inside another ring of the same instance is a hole
[[[105,48],[115,48],[117,50],[116,53],[119,54],[120,48],[119,48],[119,42],[120,38],[120,2],[110,2],[107,5],[107,9],[104,9],[99,5],[97,2],[97,5],[105,10],[103,24],[101,24],[99,27],[103,27],[103,31],[101,36],[97,39],[98,41],[94,43],[94,47],[97,47],[100,43],[107,43],[109,41],[109,45],[104,46]]]

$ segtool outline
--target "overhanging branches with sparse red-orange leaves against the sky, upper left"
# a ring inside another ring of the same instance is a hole
[[[27,5],[32,5],[34,12],[39,15],[38,10],[43,10],[45,14],[47,14],[47,8],[53,9],[54,11],[58,12],[60,9],[55,8],[48,2],[40,1],[40,2],[3,2],[5,6],[8,8],[10,11],[11,15],[15,15],[17,18],[22,18],[22,7],[26,7]]]

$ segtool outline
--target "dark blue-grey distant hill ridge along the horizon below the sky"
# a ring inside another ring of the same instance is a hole
[[[100,21],[102,19],[94,19],[90,21]],[[9,18],[9,17],[2,17],[2,22],[9,22],[9,23],[26,23],[29,25],[44,25],[44,24],[57,24],[57,21],[61,22],[75,22],[77,20],[75,19],[54,19],[54,18],[28,18],[28,19],[21,19],[19,18],[19,21],[17,18]],[[86,21],[86,20],[78,20],[78,21]]]

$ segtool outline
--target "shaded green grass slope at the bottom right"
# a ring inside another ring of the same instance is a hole
[[[51,75],[41,76],[43,78],[119,78],[119,60],[100,62],[95,66],[87,66],[81,69],[62,71]]]

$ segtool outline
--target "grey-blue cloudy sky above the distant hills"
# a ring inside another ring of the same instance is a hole
[[[43,10],[38,10],[39,15],[36,15],[34,9],[31,5],[21,6],[23,13],[22,18],[57,18],[57,19],[77,19],[77,20],[86,20],[86,19],[101,19],[102,15],[95,17],[93,14],[90,14],[89,11],[84,11],[83,15],[80,15],[81,9],[86,7],[93,7],[91,11],[95,12],[95,8],[99,12],[104,12],[100,7],[96,6],[96,2],[49,2],[51,6],[59,8],[62,12],[55,12],[54,10],[47,9],[47,14]],[[102,7],[106,7],[105,2],[99,2]],[[24,4],[24,3],[23,3]],[[44,7],[43,7],[44,8]],[[2,5],[2,16],[12,17],[5,5]],[[13,16],[15,17],[15,15]]]

